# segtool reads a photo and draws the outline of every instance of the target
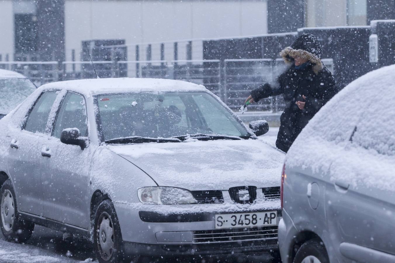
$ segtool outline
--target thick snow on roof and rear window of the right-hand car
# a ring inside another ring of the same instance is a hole
[[[354,189],[395,192],[394,72],[395,65],[386,66],[343,88],[300,133],[286,166]]]

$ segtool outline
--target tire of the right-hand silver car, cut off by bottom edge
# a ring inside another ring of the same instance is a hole
[[[320,239],[310,239],[296,252],[293,263],[329,263],[328,253]]]

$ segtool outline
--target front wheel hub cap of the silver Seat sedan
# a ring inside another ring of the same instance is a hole
[[[98,248],[102,258],[107,261],[114,252],[114,229],[109,214],[103,212],[98,221]]]

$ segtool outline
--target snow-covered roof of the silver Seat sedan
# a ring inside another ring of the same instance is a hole
[[[207,91],[203,85],[172,79],[107,78],[59,81],[41,86],[42,89],[66,89],[81,94],[117,92]]]

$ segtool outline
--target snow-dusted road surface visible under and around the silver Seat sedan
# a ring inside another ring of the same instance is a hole
[[[269,131],[260,136],[260,139],[275,145],[278,127],[270,127]],[[1,231],[0,231],[1,232]],[[90,262],[95,259],[93,245],[87,240],[64,240],[63,233],[36,225],[32,238],[27,244],[7,242],[0,233],[0,262],[1,263],[76,263]],[[142,259],[141,262],[251,262],[273,263],[272,257],[267,254],[233,255],[219,258],[204,257],[203,259]],[[94,261],[98,262],[98,261]]]

